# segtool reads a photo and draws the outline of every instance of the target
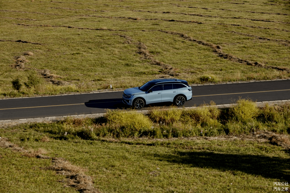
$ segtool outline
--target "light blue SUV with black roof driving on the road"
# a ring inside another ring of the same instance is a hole
[[[140,87],[128,88],[123,93],[123,103],[136,109],[159,102],[173,102],[182,106],[191,99],[192,88],[187,81],[179,79],[154,79]]]

